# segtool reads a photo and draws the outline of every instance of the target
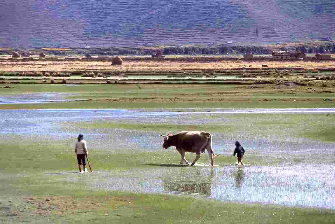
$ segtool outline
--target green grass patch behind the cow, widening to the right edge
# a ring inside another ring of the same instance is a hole
[[[318,141],[334,142],[334,114],[201,114],[190,115],[194,121],[203,121],[199,125],[190,124],[152,124],[145,122],[125,123],[117,120],[104,122],[76,122],[64,126],[86,129],[126,129],[155,131],[156,133],[177,133],[181,130],[206,130],[228,135],[275,137],[285,139],[289,136],[310,138]]]

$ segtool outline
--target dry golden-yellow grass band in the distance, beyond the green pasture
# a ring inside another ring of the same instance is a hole
[[[183,70],[220,70],[236,69],[242,67],[262,68],[266,64],[271,68],[335,68],[335,62],[243,62],[243,61],[221,61],[221,62],[127,62],[125,59],[122,66],[112,66],[112,62],[101,61],[0,61],[0,71],[77,71],[77,70],[110,70],[110,71],[183,71]]]

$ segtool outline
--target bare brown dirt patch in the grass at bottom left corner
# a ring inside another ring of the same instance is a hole
[[[95,211],[108,212],[116,210],[118,206],[129,203],[131,198],[115,196],[25,196],[18,200],[2,202],[0,204],[0,220],[12,219],[13,221],[40,220],[43,217],[66,217],[76,214]],[[16,222],[15,221],[15,222]]]

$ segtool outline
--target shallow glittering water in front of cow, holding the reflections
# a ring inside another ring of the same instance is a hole
[[[167,193],[215,200],[335,209],[334,165],[244,166],[211,168],[158,166],[127,172],[94,172],[65,178],[89,181],[92,190]]]

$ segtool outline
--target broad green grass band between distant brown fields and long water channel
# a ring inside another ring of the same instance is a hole
[[[0,84],[4,87],[7,84]],[[248,89],[248,85],[60,85],[9,84],[1,95],[22,93],[67,93],[75,102],[44,104],[3,104],[0,109],[52,108],[317,108],[334,107],[332,93],[292,93],[292,89],[274,90],[272,85]],[[305,87],[294,90],[303,91]],[[306,89],[308,90],[308,89]],[[310,91],[310,90],[308,90]],[[320,90],[321,91],[321,90]],[[322,92],[322,91],[321,91]]]

